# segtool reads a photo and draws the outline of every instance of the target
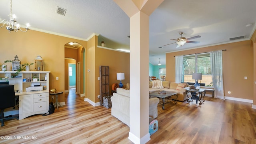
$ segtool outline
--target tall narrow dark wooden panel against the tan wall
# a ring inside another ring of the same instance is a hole
[[[100,106],[103,106],[103,97],[109,96],[109,68],[100,66]]]

